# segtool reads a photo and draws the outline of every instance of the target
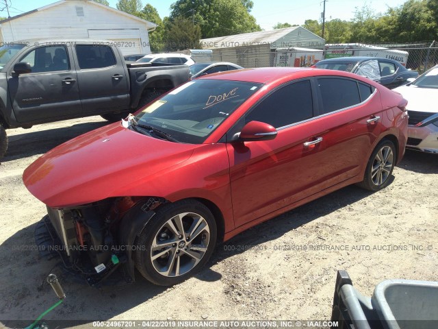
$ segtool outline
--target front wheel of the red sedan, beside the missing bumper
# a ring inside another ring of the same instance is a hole
[[[134,261],[146,280],[172,286],[207,263],[216,237],[214,216],[200,202],[189,199],[164,205],[138,237]]]

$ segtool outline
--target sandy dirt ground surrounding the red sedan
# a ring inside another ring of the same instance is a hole
[[[44,283],[55,263],[32,249],[45,207],[23,185],[23,170],[105,124],[92,117],[8,130],[0,164],[0,327],[26,326],[57,300]],[[348,186],[276,217],[219,246],[201,273],[172,288],[139,273],[135,284],[101,290],[62,282],[66,300],[44,319],[60,327],[84,320],[80,328],[110,319],[329,320],[338,269],[366,296],[389,278],[438,280],[437,187],[438,156],[407,151],[383,191]]]

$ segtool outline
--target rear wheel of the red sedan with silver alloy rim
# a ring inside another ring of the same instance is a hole
[[[368,160],[363,181],[358,185],[370,191],[379,191],[389,184],[396,164],[396,147],[389,140],[378,143]]]

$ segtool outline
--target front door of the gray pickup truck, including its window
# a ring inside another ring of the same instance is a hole
[[[18,62],[28,62],[31,73],[8,72],[8,91],[16,120],[46,121],[81,115],[77,73],[67,45],[47,45],[27,51]]]

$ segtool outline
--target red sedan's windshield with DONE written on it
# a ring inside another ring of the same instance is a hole
[[[254,82],[193,80],[144,108],[136,121],[181,143],[201,144],[261,86]]]

